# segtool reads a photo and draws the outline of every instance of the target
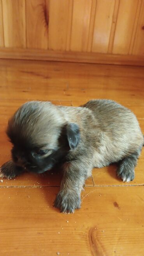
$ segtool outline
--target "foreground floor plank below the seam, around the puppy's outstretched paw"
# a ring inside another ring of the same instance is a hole
[[[143,187],[87,187],[69,215],[53,208],[58,190],[0,188],[2,256],[142,256]]]

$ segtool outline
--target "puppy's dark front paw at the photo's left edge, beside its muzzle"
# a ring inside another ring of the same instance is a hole
[[[5,162],[0,168],[0,178],[14,178],[23,172],[23,168],[15,166],[12,161]]]

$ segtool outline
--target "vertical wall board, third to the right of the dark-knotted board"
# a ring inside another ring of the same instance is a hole
[[[107,53],[114,12],[114,0],[97,0],[92,51]]]

